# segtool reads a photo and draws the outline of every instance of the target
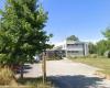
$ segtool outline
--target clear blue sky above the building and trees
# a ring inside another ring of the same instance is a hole
[[[96,42],[103,38],[101,32],[110,26],[110,0],[41,0],[48,12],[44,30],[53,33],[52,43],[59,43],[69,35],[80,41]],[[0,9],[4,0],[0,0]]]

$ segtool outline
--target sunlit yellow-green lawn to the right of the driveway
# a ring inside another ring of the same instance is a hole
[[[73,58],[73,62],[84,63],[87,65],[91,65],[103,70],[99,70],[101,73],[110,75],[110,58]]]

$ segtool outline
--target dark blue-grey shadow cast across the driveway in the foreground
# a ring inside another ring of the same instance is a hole
[[[98,87],[99,82],[102,81],[101,78],[86,77],[84,75],[51,76],[48,80],[57,86],[57,88],[106,88]]]

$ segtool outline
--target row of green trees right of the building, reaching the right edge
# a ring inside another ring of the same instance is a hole
[[[105,32],[102,32],[105,40],[100,40],[96,44],[89,43],[89,53],[105,55],[106,52],[108,57],[110,57],[110,28],[107,28]]]

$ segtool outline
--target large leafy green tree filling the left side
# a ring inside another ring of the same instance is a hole
[[[47,21],[37,0],[7,0],[0,19],[0,64],[23,65],[32,62],[35,54],[42,53],[52,34],[43,30]]]

